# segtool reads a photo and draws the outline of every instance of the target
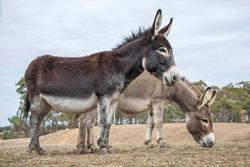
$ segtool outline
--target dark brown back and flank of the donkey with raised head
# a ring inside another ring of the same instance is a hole
[[[111,69],[116,66],[115,56],[112,54],[101,52],[89,57],[38,57],[25,73],[28,91],[34,95],[42,93],[72,98],[86,98],[94,91],[101,92],[103,87],[98,83],[110,75],[105,73],[106,66]]]

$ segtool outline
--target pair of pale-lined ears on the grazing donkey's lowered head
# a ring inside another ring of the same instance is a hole
[[[212,89],[211,87],[208,87],[204,91],[204,93],[201,96],[200,100],[198,101],[198,107],[201,108],[205,104],[207,104],[208,106],[210,106],[214,102],[216,94],[217,94],[217,90]]]

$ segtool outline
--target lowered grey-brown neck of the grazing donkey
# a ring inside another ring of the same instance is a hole
[[[170,87],[169,96],[183,111],[197,110],[197,94],[185,82],[179,81]]]

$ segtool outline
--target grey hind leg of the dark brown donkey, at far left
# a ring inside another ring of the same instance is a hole
[[[31,103],[31,115],[30,115],[30,137],[29,152],[36,150],[39,155],[45,154],[45,151],[40,147],[39,142],[39,127],[44,117],[49,113],[50,106],[36,96]]]

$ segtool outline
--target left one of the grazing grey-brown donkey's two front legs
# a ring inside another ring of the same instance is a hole
[[[146,139],[144,141],[144,144],[147,146],[147,148],[152,148],[152,131],[154,129],[154,120],[153,120],[153,113],[151,110],[148,111],[148,119],[147,119],[147,131],[146,131]]]

